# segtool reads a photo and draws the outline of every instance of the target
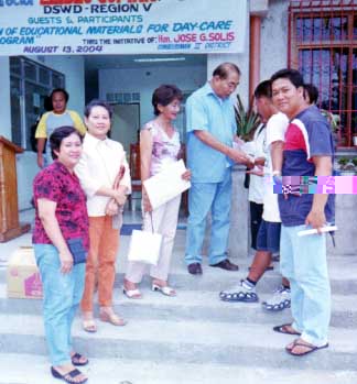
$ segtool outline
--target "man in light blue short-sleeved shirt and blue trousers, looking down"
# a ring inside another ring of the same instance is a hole
[[[206,218],[212,212],[208,250],[210,266],[237,271],[227,259],[232,163],[248,157],[232,149],[237,132],[230,95],[239,84],[240,70],[232,63],[219,65],[213,78],[190,96],[187,116],[187,164],[192,171],[185,262],[193,275],[202,274],[202,246]]]

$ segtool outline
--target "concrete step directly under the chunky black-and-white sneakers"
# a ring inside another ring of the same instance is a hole
[[[173,321],[209,319],[212,322],[232,323],[268,323],[278,325],[291,320],[290,309],[270,312],[262,308],[261,303],[225,303],[216,292],[178,290],[176,297],[165,297],[141,287],[143,299],[133,300],[123,296],[121,290],[115,292],[116,310],[128,320],[150,318],[154,320],[170,319]],[[260,301],[270,295],[260,294]],[[332,326],[336,328],[357,329],[357,295],[333,296]],[[98,311],[98,307],[96,306]],[[0,312],[41,315],[42,300],[8,299],[6,285],[0,284]]]

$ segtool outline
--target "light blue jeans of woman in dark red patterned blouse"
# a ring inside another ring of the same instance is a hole
[[[58,251],[51,244],[34,244],[43,286],[43,317],[52,365],[71,362],[71,327],[82,299],[86,264],[63,274]]]

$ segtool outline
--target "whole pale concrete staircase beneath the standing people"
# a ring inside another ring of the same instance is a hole
[[[260,303],[218,299],[219,290],[246,276],[250,259],[238,260],[238,272],[204,263],[203,276],[192,276],[183,262],[184,237],[185,231],[178,230],[170,278],[177,297],[151,292],[144,279],[143,298],[138,300],[128,299],[120,289],[129,242],[129,237],[121,238],[115,306],[128,325],[116,328],[98,321],[98,332],[87,333],[77,318],[73,327],[76,349],[90,360],[83,369],[88,383],[357,383],[357,257],[329,257],[329,348],[294,358],[284,351],[293,337],[272,331],[291,320],[289,309],[271,314]],[[19,243],[29,245],[30,237]],[[279,279],[278,271],[266,273],[258,285],[260,300]],[[46,353],[41,300],[8,299],[6,270],[0,266],[0,383],[58,383],[50,375]]]

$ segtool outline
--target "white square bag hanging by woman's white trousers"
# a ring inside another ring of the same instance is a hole
[[[151,217],[152,224],[152,217]],[[162,234],[133,230],[131,233],[128,260],[145,264],[158,265],[161,250]]]

